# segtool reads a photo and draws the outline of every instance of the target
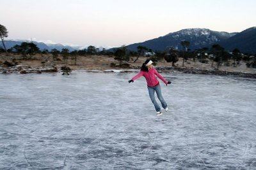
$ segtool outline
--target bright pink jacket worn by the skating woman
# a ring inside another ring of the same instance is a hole
[[[166,81],[163,76],[161,76],[161,74],[159,74],[156,69],[154,68],[151,68],[147,71],[140,71],[139,74],[137,74],[136,76],[134,76],[132,78],[132,80],[136,80],[137,78],[139,78],[140,76],[144,76],[145,79],[147,80],[147,84],[148,84],[148,87],[155,87],[156,85],[159,84],[159,81],[157,80],[156,76],[158,78],[160,78],[166,85],[168,83],[168,81]]]

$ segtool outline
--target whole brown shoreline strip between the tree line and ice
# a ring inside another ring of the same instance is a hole
[[[7,66],[5,61],[13,64],[12,59],[16,59],[14,66]],[[135,58],[135,57],[134,57]],[[62,60],[54,61],[49,55],[41,56],[35,55],[32,59],[22,60],[20,56],[4,56],[0,57],[0,74],[28,74],[28,73],[58,73],[61,71],[61,67],[69,67],[71,71],[86,71],[94,73],[131,73],[140,71],[141,63],[147,59],[147,57],[140,57],[138,62],[134,62],[134,58],[131,58],[129,62],[125,62],[120,66],[119,62],[114,57],[104,55],[88,55],[77,57],[77,63],[74,64],[74,60],[68,59],[66,62]],[[170,62],[165,60],[159,60],[156,67],[159,72],[174,72],[187,74],[209,74],[220,76],[239,76],[244,78],[256,78],[256,68],[246,67],[245,62],[241,62],[241,66],[220,66],[219,69],[211,67],[209,63],[201,63],[199,61],[187,60],[185,67],[182,67],[182,59],[180,58],[176,66],[171,66]]]

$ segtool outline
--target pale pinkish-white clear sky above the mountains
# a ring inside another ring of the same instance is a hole
[[[6,39],[104,48],[188,28],[241,32],[256,26],[255,0],[0,0]]]

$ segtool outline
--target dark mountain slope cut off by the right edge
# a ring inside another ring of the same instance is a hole
[[[244,53],[256,53],[256,27],[251,27],[220,42],[225,50],[238,48]]]

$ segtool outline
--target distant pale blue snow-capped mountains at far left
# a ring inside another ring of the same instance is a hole
[[[19,40],[19,41],[15,41],[15,40],[4,40],[4,45],[6,46],[7,49],[12,48],[15,45],[21,45],[22,42],[28,42],[30,43],[31,41],[27,41],[27,40]],[[49,50],[51,51],[52,49],[56,48],[57,50],[61,51],[63,48],[67,48],[70,52],[76,50],[76,48],[73,48],[72,46],[64,46],[61,44],[45,44],[42,42],[36,42],[33,41],[33,43],[40,49],[40,50]],[[2,43],[0,44],[0,48],[3,48]]]

